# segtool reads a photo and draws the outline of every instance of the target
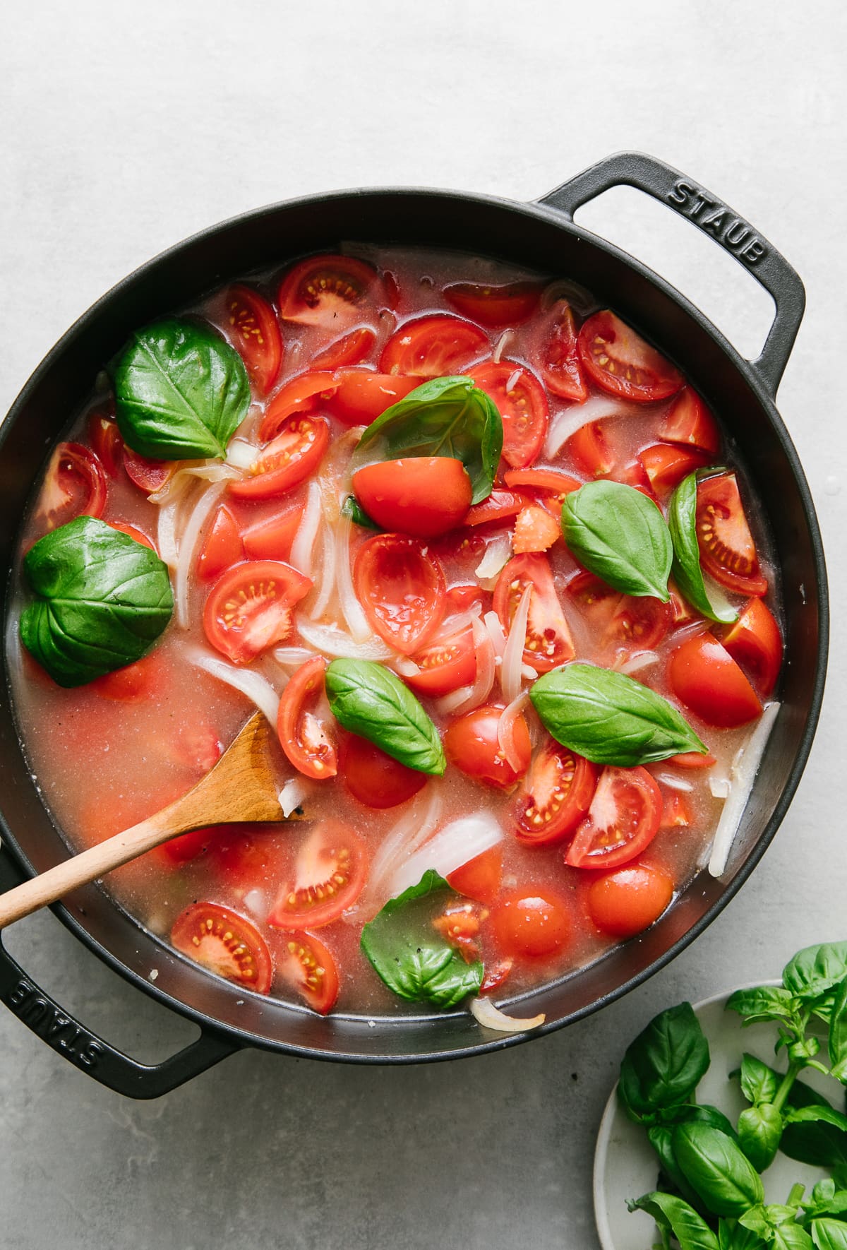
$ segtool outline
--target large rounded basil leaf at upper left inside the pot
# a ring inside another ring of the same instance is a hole
[[[142,456],[225,456],[250,408],[241,356],[210,326],[169,318],[137,330],[115,370],[115,415]]]

